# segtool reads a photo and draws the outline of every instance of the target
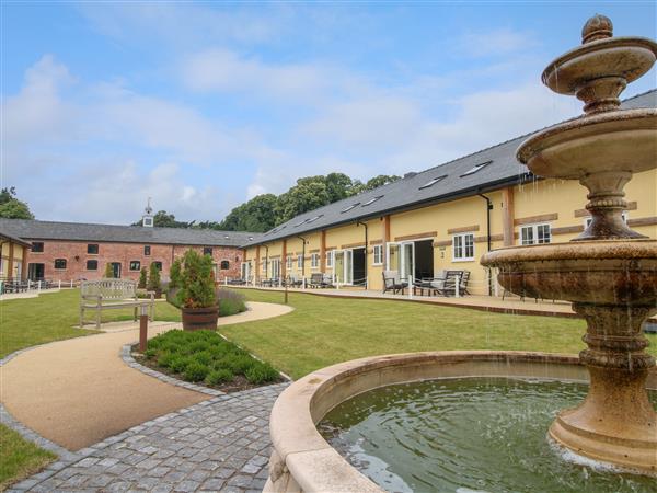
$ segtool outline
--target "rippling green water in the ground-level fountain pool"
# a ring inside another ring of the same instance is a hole
[[[586,391],[504,378],[391,386],[342,403],[318,427],[391,492],[657,492],[655,478],[574,461],[549,444],[556,413]],[[650,400],[657,404],[657,392]]]

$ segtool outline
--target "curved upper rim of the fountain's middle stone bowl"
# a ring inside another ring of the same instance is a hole
[[[653,107],[612,110],[593,115],[581,115],[556,125],[552,125],[538,131],[537,134],[533,134],[531,137],[528,137],[522,144],[520,144],[520,146],[518,146],[516,157],[521,163],[527,164],[533,156],[541,152],[543,149],[551,147],[551,145],[544,145],[544,141],[550,138],[558,136],[562,138],[562,140],[556,144],[561,144],[563,140],[567,140],[567,137],[570,137],[568,133],[581,133],[584,130],[589,130],[590,135],[598,135],[593,128],[595,126],[615,123],[618,126],[626,125],[630,127],[633,124],[635,125],[636,122],[642,121],[647,121],[649,124],[650,121],[655,121],[655,118],[657,118],[657,108]],[[653,127],[648,126],[648,128]],[[611,131],[629,131],[634,129],[635,128],[625,129],[615,127]],[[570,140],[575,140],[580,137],[580,135],[573,135]]]

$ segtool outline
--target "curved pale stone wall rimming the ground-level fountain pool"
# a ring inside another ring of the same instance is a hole
[[[486,351],[377,356],[323,368],[296,381],[274,404],[274,451],[265,491],[383,491],[331,447],[316,424],[336,405],[372,389],[459,377],[585,382],[588,372],[575,356]],[[657,371],[650,371],[647,387],[657,389]]]

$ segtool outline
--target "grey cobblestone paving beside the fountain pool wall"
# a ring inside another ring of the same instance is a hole
[[[157,417],[15,484],[34,492],[260,492],[269,412],[288,383],[235,392]]]

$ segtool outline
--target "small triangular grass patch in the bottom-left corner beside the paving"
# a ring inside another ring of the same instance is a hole
[[[13,429],[0,425],[0,491],[55,460],[57,456],[24,440]]]

